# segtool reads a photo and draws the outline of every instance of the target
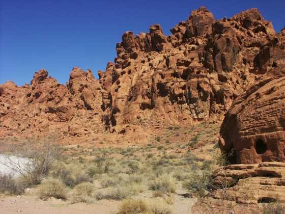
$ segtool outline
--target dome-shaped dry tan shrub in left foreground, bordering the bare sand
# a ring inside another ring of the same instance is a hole
[[[67,191],[64,183],[55,178],[43,180],[38,188],[38,196],[40,199],[47,200],[50,197],[66,199]]]

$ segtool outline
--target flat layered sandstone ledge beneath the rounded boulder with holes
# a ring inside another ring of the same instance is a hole
[[[285,203],[285,163],[230,165],[215,172],[213,191],[197,202],[194,213],[251,213],[258,203]]]

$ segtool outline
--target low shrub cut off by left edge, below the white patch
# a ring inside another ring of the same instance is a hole
[[[19,195],[24,192],[24,185],[19,180],[13,178],[11,174],[0,173],[0,193],[8,195]]]

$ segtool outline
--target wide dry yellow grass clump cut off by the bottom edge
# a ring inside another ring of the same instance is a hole
[[[118,214],[171,214],[172,211],[161,200],[125,199]]]

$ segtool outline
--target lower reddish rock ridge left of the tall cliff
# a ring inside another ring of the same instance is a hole
[[[12,82],[0,86],[0,136],[36,137],[59,133],[61,140],[85,137],[104,129],[101,86],[90,70],[74,68],[67,86],[36,72],[31,85]]]

